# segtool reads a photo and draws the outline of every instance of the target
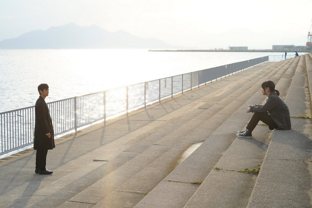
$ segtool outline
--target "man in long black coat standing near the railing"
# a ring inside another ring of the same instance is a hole
[[[46,154],[49,149],[55,148],[54,132],[52,120],[48,106],[44,99],[49,95],[49,86],[40,84],[38,86],[40,94],[35,105],[35,132],[34,132],[34,149],[36,153],[35,173],[51,174],[53,171],[46,169]]]

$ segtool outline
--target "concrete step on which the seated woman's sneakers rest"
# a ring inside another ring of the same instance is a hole
[[[298,62],[295,61],[287,71],[291,71],[297,64]],[[286,72],[285,75],[288,76]],[[277,83],[276,89],[280,90],[282,97],[285,97],[285,91],[290,83],[291,79],[288,79],[288,85],[285,85],[285,80],[283,84]],[[263,101],[265,102],[266,100]],[[185,207],[205,207],[207,203],[213,204],[211,207],[246,206],[256,181],[256,175],[236,171],[261,167],[270,135],[271,131],[267,127],[259,126],[253,131],[252,139],[236,138],[215,165],[222,170],[212,170]],[[224,186],[227,189],[220,189]],[[204,199],[198,204],[196,201],[199,198]]]

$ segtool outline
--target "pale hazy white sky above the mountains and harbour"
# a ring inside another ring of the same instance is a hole
[[[173,46],[305,45],[311,0],[0,0],[0,40],[70,22]]]

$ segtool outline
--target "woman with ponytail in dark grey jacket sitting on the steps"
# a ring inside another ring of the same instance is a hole
[[[249,105],[247,113],[254,113],[247,127],[243,131],[237,132],[237,137],[251,138],[251,132],[256,128],[259,121],[267,124],[270,130],[288,130],[291,129],[290,113],[284,100],[280,98],[280,92],[275,89],[272,81],[266,81],[261,84],[261,91],[268,99],[264,105]]]

